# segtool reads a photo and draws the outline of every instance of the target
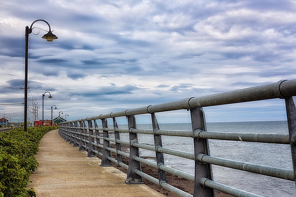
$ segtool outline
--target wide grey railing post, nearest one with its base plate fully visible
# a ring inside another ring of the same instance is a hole
[[[140,162],[135,161],[133,158],[135,156],[139,157],[139,148],[133,147],[133,143],[138,143],[137,133],[132,133],[132,129],[137,129],[136,117],[134,115],[128,116],[128,129],[129,129],[129,139],[130,139],[130,156],[128,163],[128,171],[126,177],[126,184],[143,184],[142,177],[135,173],[135,170],[138,169],[142,171]]]

